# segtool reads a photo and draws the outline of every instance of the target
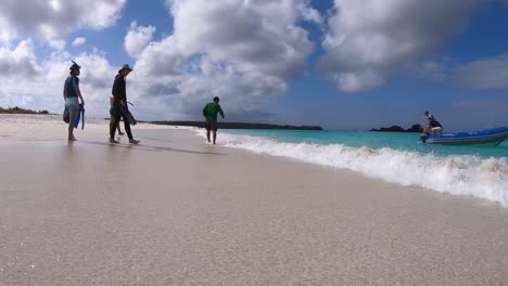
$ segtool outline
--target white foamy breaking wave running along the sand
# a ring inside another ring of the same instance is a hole
[[[204,136],[204,132],[199,132]],[[389,147],[372,150],[342,144],[283,143],[267,138],[220,133],[220,144],[274,156],[294,158],[407,186],[454,195],[470,195],[508,207],[506,157],[436,156]]]

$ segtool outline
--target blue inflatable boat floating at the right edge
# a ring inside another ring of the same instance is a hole
[[[497,146],[507,138],[508,128],[498,127],[472,132],[422,134],[421,141],[429,144]]]

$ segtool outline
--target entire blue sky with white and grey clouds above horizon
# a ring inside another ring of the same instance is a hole
[[[107,116],[118,67],[140,119],[365,130],[508,126],[503,0],[3,0],[0,106],[60,113],[71,60],[87,113]],[[23,11],[23,13],[21,13]]]

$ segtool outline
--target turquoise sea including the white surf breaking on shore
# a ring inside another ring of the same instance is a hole
[[[220,130],[218,144],[508,207],[508,142],[446,146],[422,144],[419,133]]]

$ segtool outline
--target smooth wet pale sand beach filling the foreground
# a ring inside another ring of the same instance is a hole
[[[499,205],[107,123],[0,115],[1,286],[508,285]]]

